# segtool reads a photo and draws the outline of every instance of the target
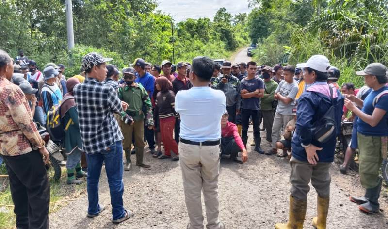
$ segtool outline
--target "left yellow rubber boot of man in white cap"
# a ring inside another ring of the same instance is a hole
[[[275,229],[303,229],[306,207],[307,201],[296,200],[290,195],[289,221],[286,224],[275,224]]]

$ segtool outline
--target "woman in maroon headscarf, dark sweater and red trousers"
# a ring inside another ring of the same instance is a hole
[[[179,160],[178,144],[174,140],[173,132],[175,126],[175,94],[172,91],[172,83],[164,76],[158,77],[156,80],[156,89],[159,90],[155,105],[159,113],[160,130],[164,145],[164,154],[159,156],[159,159],[171,158],[171,151],[175,153],[172,160]]]

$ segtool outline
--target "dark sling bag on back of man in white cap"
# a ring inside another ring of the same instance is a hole
[[[336,111],[333,99],[333,87],[329,85],[331,106],[312,126],[313,138],[319,143],[326,143],[337,136]]]

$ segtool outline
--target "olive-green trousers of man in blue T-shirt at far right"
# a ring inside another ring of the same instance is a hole
[[[364,188],[374,188],[379,182],[379,171],[383,158],[381,156],[381,137],[366,136],[357,133],[358,148],[360,150],[359,175]]]

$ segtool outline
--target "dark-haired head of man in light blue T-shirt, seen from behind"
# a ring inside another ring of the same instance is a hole
[[[198,56],[193,59],[191,68],[199,80],[210,82],[214,72],[214,62],[209,57]]]

